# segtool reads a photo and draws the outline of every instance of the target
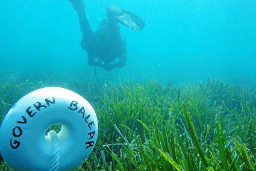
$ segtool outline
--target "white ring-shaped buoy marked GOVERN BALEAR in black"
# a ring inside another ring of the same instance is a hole
[[[60,132],[46,131],[61,125]],[[95,147],[98,120],[82,96],[46,87],[23,96],[0,128],[0,151],[15,170],[72,170]]]

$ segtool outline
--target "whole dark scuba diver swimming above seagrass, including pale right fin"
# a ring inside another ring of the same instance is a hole
[[[88,65],[112,70],[126,64],[126,43],[122,39],[118,23],[142,30],[145,25],[140,17],[116,5],[107,5],[107,19],[102,19],[99,29],[93,33],[86,18],[83,0],[69,0],[76,10],[83,38],[80,45],[88,54]],[[96,71],[95,71],[96,74]]]

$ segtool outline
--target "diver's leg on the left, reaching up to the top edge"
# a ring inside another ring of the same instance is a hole
[[[85,49],[89,54],[93,51],[96,44],[95,34],[93,34],[92,28],[86,18],[86,11],[83,0],[69,0],[73,8],[78,14],[80,22],[80,29],[83,33],[83,39],[81,40],[81,47]]]

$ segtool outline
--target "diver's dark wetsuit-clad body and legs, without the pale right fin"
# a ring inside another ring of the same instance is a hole
[[[107,13],[108,18],[101,21],[99,29],[93,33],[86,18],[83,0],[69,0],[78,13],[80,28],[83,33],[81,47],[88,53],[90,66],[104,67],[111,70],[126,64],[126,43],[120,36],[117,19]],[[115,63],[115,60],[118,60]]]

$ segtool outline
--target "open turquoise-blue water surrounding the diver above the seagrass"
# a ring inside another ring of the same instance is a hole
[[[256,80],[256,1],[87,1],[87,19],[95,31],[105,5],[133,11],[142,31],[120,25],[127,42],[125,67],[111,72],[87,66],[81,49],[78,16],[67,0],[1,0],[0,70],[81,73],[85,78],[155,78],[193,82],[207,78]],[[51,75],[49,75],[50,77]]]

